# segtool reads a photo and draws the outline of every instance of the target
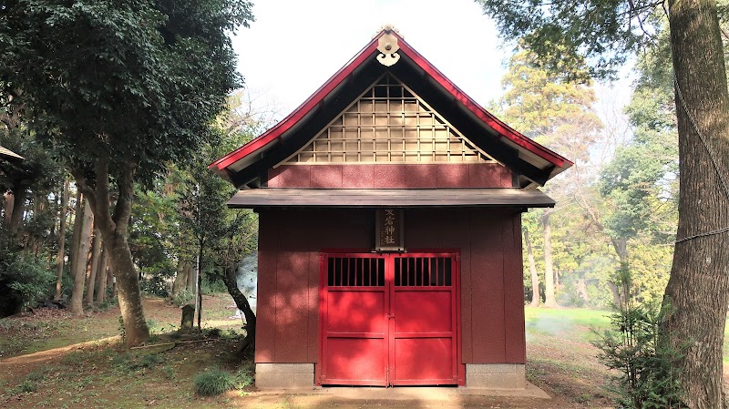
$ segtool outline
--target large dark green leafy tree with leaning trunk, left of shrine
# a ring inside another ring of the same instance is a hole
[[[210,138],[241,83],[229,33],[251,19],[241,0],[11,0],[0,9],[0,82],[23,90],[38,135],[91,203],[128,345],[149,337],[128,246],[135,182]]]

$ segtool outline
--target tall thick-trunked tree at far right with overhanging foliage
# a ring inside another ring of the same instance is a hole
[[[614,74],[655,42],[668,16],[679,140],[679,221],[666,287],[663,342],[691,340],[679,361],[691,408],[727,407],[722,345],[729,305],[729,92],[715,0],[477,0],[506,38],[522,38],[544,66],[574,77]],[[720,13],[721,12],[721,13]]]

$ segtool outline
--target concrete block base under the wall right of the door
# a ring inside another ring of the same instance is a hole
[[[466,387],[478,389],[524,389],[523,363],[467,363]]]

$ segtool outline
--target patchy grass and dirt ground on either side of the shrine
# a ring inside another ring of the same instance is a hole
[[[250,360],[235,354],[232,335],[241,321],[228,294],[206,296],[203,328],[221,335],[201,342],[124,350],[118,340],[118,308],[73,317],[66,312],[0,320],[0,407],[9,408],[227,408],[344,407],[361,403],[306,401],[291,395],[262,397],[254,388],[216,397],[194,394],[193,378],[210,368],[231,373],[251,371]],[[145,299],[153,342],[175,341],[180,309],[157,299]],[[553,396],[551,401],[523,402],[482,398],[477,406],[503,408],[611,407],[604,386],[611,373],[595,357],[591,328],[610,324],[610,312],[586,309],[526,310],[527,378]],[[429,407],[432,403],[380,404]],[[446,405],[447,407],[452,407]],[[456,404],[457,405],[457,404]],[[435,406],[446,407],[443,404]]]

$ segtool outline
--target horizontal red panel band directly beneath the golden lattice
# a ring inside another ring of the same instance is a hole
[[[282,165],[269,170],[269,188],[426,189],[510,188],[498,163]]]

